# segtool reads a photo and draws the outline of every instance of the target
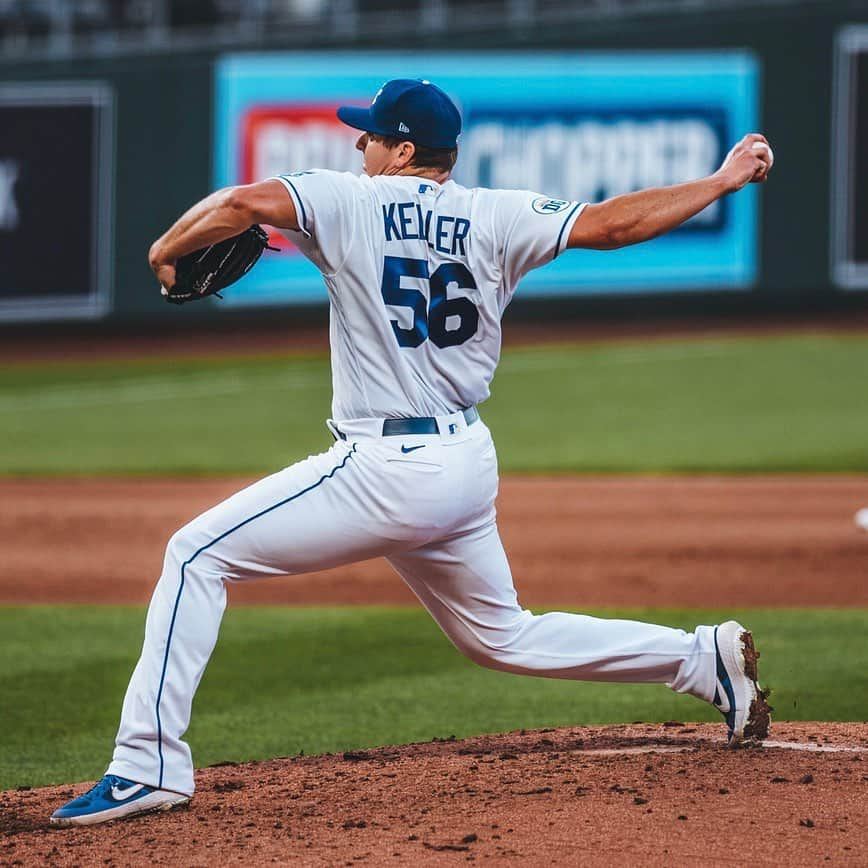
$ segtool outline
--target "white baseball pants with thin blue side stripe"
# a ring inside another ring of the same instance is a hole
[[[383,437],[382,420],[336,423],[346,440],[254,483],[169,541],[109,774],[192,794],[182,740],[217,641],[226,581],[306,573],[383,555],[455,646],[483,666],[587,681],[663,682],[714,695],[711,627],[685,633],[518,604],[497,533],[497,458],[481,420],[447,434]],[[335,423],[331,424],[333,430]]]

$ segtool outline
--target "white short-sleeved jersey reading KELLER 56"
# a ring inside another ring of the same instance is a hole
[[[288,237],[331,301],[335,419],[437,416],[484,401],[500,318],[584,206],[454,181],[314,170],[278,178]]]

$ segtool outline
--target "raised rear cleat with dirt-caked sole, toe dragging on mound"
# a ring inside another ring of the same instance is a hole
[[[753,636],[737,621],[714,629],[717,687],[712,704],[726,718],[729,744],[758,743],[768,737],[771,706],[757,683],[759,652]]]

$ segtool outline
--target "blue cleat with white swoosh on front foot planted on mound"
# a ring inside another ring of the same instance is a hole
[[[51,815],[51,825],[107,823],[151,811],[168,811],[189,801],[190,796],[181,793],[157,790],[116,775],[105,775],[93,789],[58,808]]]

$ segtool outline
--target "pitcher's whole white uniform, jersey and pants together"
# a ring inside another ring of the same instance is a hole
[[[293,240],[328,285],[341,436],[172,536],[109,774],[192,794],[183,736],[227,581],[378,556],[484,666],[663,682],[711,701],[711,627],[685,633],[521,608],[497,531],[491,432],[459,412],[488,396],[500,316],[521,276],[561,252],[581,206],[404,176],[316,171],[280,180],[302,226]],[[383,418],[402,416],[437,424],[385,430]]]

